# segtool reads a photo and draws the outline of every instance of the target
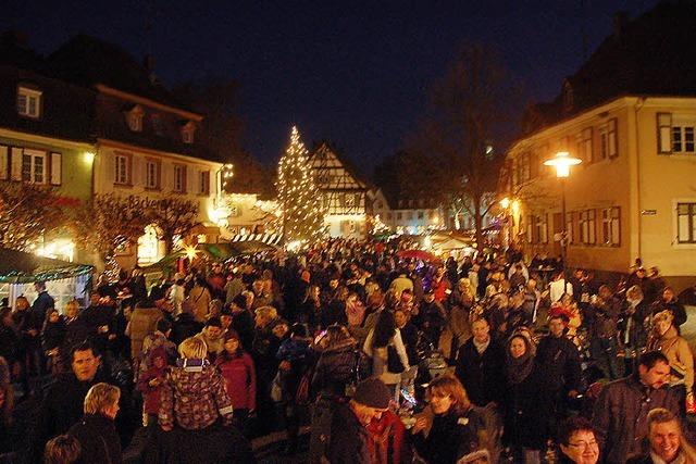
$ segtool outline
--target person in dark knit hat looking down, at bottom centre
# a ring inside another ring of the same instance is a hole
[[[389,407],[393,392],[378,378],[369,378],[356,386],[356,393],[348,403],[334,410],[327,460],[332,464],[369,464],[369,436],[366,426],[378,419]]]

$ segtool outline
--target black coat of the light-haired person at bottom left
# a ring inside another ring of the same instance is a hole
[[[67,431],[79,441],[80,459],[90,464],[120,464],[121,440],[113,419],[101,414],[85,414]]]

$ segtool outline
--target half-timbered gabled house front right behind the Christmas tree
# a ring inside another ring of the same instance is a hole
[[[326,143],[310,156],[314,185],[322,197],[332,237],[362,239],[366,235],[368,186]]]

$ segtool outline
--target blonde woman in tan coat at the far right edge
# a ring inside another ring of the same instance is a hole
[[[679,335],[674,315],[664,310],[652,316],[652,334],[647,343],[648,351],[660,351],[670,362],[670,386],[683,385],[686,396],[686,412],[696,414],[694,401],[694,355],[688,342]]]

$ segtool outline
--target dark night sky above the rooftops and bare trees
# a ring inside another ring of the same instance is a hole
[[[308,146],[332,140],[371,173],[417,128],[463,40],[497,47],[527,100],[549,100],[583,62],[583,29],[592,52],[614,12],[635,17],[656,2],[5,0],[0,29],[27,33],[44,53],[77,33],[152,53],[169,86],[236,79],[245,145],[260,161],[277,159],[297,124]]]

